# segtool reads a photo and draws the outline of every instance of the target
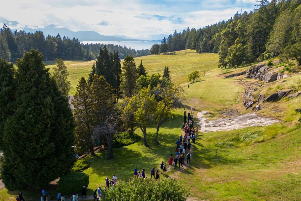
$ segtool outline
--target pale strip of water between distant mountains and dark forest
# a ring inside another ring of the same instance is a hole
[[[150,49],[152,45],[158,43],[160,41],[82,41],[83,44],[90,44],[90,43],[100,43],[100,44],[114,44],[120,46],[126,46],[127,48],[131,47],[131,49],[135,50],[143,50],[143,49]]]

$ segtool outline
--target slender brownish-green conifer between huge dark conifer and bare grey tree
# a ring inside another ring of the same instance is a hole
[[[78,81],[77,91],[74,95],[72,104],[74,106],[74,120],[75,120],[75,136],[77,150],[81,153],[90,151],[94,155],[93,142],[91,136],[93,134],[93,125],[91,117],[91,100],[90,100],[90,86],[84,77]]]

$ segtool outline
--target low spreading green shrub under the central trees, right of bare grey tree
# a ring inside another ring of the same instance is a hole
[[[113,139],[113,147],[117,148],[117,147],[127,146],[137,142],[138,140],[140,140],[140,136],[135,133],[131,133],[131,132],[118,133],[117,135],[115,135],[115,138]]]

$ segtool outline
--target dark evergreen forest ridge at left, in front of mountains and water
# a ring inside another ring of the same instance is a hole
[[[53,61],[55,58],[63,60],[86,60],[97,58],[99,49],[106,46],[109,51],[118,52],[119,58],[126,55],[140,57],[150,55],[149,50],[134,50],[126,46],[114,44],[83,44],[77,38],[56,36],[45,36],[42,31],[26,33],[24,30],[12,31],[7,25],[0,29],[0,58],[16,62],[17,58],[23,56],[24,51],[38,50],[43,54],[44,61]]]

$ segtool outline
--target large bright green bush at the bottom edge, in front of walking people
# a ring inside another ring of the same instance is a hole
[[[120,181],[113,190],[103,193],[103,201],[139,200],[139,201],[185,201],[187,191],[173,179],[162,179],[154,182],[149,179]]]

